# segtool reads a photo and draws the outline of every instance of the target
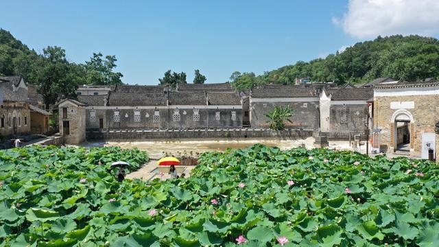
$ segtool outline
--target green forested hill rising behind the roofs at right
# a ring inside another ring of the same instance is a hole
[[[439,40],[401,35],[378,37],[327,58],[299,61],[259,76],[235,72],[230,80],[237,88],[244,89],[257,84],[292,84],[296,78],[355,84],[380,77],[398,80],[439,78]]]

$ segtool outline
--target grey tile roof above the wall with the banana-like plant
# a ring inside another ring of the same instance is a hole
[[[251,97],[272,98],[272,97],[318,97],[313,89],[252,89]]]

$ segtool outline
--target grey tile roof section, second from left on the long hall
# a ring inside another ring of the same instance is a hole
[[[167,93],[112,93],[108,106],[166,106]]]

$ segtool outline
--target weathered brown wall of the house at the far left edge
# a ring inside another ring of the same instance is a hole
[[[4,125],[0,126],[2,136],[22,135],[30,132],[28,103],[3,102],[0,108],[0,118],[3,118]]]

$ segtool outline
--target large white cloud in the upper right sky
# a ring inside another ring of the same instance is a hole
[[[378,35],[439,34],[439,0],[349,0],[335,25],[356,38]]]

